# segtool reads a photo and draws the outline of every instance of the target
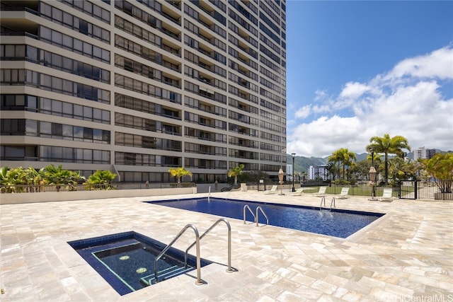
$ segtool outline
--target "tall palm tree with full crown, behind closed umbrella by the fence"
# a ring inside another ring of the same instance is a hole
[[[385,164],[385,184],[389,184],[389,154],[396,154],[399,157],[404,156],[402,149],[411,151],[411,146],[408,144],[406,137],[397,135],[396,137],[390,137],[389,134],[384,134],[384,137],[372,137],[369,139],[367,146],[367,152],[374,149],[377,153],[384,153],[384,164]]]

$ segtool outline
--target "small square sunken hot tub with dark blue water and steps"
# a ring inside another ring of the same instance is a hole
[[[71,241],[69,245],[120,295],[155,283],[154,260],[166,247],[133,231]],[[207,260],[201,261],[202,266],[208,264]],[[157,262],[159,281],[189,272],[194,267],[195,257],[188,255],[188,267],[185,267],[184,252],[170,248]]]

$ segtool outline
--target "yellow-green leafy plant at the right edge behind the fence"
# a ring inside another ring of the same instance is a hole
[[[437,153],[429,159],[419,159],[423,169],[434,178],[441,193],[452,193],[453,153]]]

